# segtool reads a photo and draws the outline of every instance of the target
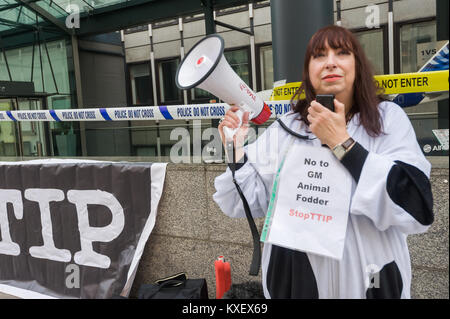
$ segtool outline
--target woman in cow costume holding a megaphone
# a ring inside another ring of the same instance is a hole
[[[370,63],[345,28],[328,26],[311,38],[302,78],[294,97],[298,101],[281,121],[307,137],[299,143],[334,150],[352,176],[343,254],[336,260],[265,243],[264,294],[267,298],[410,298],[406,238],[425,232],[434,219],[431,166],[413,127],[398,105],[377,96]],[[299,98],[301,93],[304,99]],[[335,112],[316,102],[317,94],[334,94]],[[222,136],[224,126],[238,126],[236,110],[231,108],[219,125]],[[291,134],[274,122],[254,143],[242,147],[247,127],[248,114],[236,135],[236,157],[243,163],[235,178],[252,215],[263,217]],[[273,141],[278,141],[275,152],[270,147]],[[274,157],[276,165],[268,165],[267,159]],[[216,178],[215,187],[213,197],[222,211],[244,217],[230,169]]]

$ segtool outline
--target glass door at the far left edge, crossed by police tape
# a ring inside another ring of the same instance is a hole
[[[17,109],[15,98],[0,98],[0,111]],[[0,121],[0,156],[19,156],[17,124],[13,121]]]

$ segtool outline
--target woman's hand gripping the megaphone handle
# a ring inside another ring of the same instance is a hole
[[[232,106],[228,111],[225,113],[225,117],[222,120],[222,122],[219,124],[219,133],[220,137],[222,139],[222,143],[224,146],[225,141],[225,133],[223,132],[224,127],[228,127],[230,129],[236,129],[239,127],[239,117],[236,115],[236,111],[239,110],[239,107]],[[249,128],[249,112],[244,112],[244,115],[242,116],[242,125],[237,130],[236,134],[233,136],[233,140],[236,146],[236,150],[239,151],[244,146],[245,138],[247,137],[248,128]],[[236,154],[238,155],[238,154]],[[243,154],[242,154],[243,155]],[[239,158],[239,157],[237,157]]]

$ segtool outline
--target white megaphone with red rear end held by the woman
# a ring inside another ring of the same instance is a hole
[[[240,107],[236,115],[242,124],[245,111],[255,124],[266,122],[270,108],[256,96],[247,84],[233,71],[223,55],[224,41],[221,36],[211,34],[197,42],[187,53],[177,70],[175,77],[180,89],[194,87],[203,89],[217,96],[222,101]],[[226,140],[233,141],[238,129],[224,127]]]

